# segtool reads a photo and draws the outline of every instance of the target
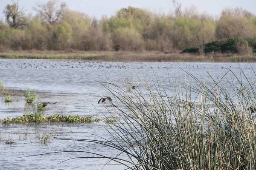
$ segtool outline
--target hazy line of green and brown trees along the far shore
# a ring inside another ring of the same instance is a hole
[[[256,38],[256,16],[242,8],[225,8],[219,18],[198,13],[195,6],[155,14],[142,8],[121,8],[100,20],[72,11],[64,2],[36,3],[35,15],[26,14],[12,0],[0,21],[0,51],[175,51],[223,38]]]

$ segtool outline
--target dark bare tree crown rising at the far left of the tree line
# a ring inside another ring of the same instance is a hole
[[[15,2],[12,0],[12,5],[8,4],[3,13],[5,14],[6,21],[12,28],[18,28],[28,23],[28,18],[25,16],[24,8],[19,9],[19,0]]]

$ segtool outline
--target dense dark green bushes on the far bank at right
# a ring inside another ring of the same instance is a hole
[[[221,53],[238,53],[236,43],[241,42],[242,40],[246,40],[248,42],[248,45],[250,45],[253,48],[253,52],[256,52],[255,39],[228,38],[204,44],[204,53],[211,53],[217,51],[220,51]],[[189,47],[183,50],[182,53],[197,53],[198,49],[199,46]]]

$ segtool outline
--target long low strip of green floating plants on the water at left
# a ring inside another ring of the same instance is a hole
[[[99,122],[99,119],[92,119],[88,116],[79,116],[79,115],[60,115],[55,114],[51,116],[43,116],[42,114],[30,113],[28,115],[17,116],[15,118],[10,119],[7,117],[3,119],[3,123],[29,123],[29,122],[84,122],[84,123],[93,123]]]

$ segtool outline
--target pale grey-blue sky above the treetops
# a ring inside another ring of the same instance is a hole
[[[27,13],[35,13],[32,6],[36,2],[46,3],[48,0],[19,0],[20,7],[24,7]],[[100,19],[103,14],[111,17],[121,8],[128,6],[149,9],[152,12],[169,13],[174,11],[172,0],[60,0],[67,3],[70,10],[80,11],[91,17]],[[242,7],[256,15],[256,0],[178,0],[181,8],[184,10],[191,5],[198,8],[199,13],[207,12],[208,14],[219,17],[225,7]],[[0,0],[0,19],[4,19],[3,10],[12,0]]]

